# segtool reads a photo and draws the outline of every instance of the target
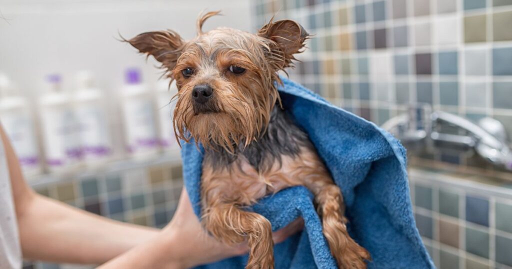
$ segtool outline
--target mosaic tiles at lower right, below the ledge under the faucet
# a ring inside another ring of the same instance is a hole
[[[512,268],[512,189],[439,178],[410,182],[416,225],[436,266]]]

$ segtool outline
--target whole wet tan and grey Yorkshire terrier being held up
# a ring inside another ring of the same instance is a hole
[[[347,232],[340,189],[308,135],[281,106],[278,71],[292,67],[309,34],[292,20],[256,34],[217,28],[183,40],[167,30],[126,40],[152,55],[178,87],[174,129],[205,149],[201,176],[202,224],[230,244],[248,241],[246,268],[273,268],[270,222],[242,208],[284,188],[304,185],[315,196],[323,232],[340,268],[366,268],[370,254]]]

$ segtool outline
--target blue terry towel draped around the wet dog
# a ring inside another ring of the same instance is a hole
[[[389,133],[372,122],[332,106],[322,97],[282,78],[284,108],[303,128],[325,161],[347,205],[350,235],[371,254],[369,268],[434,268],[416,229],[406,171],[406,152]],[[200,215],[200,176],[204,149],[194,142],[182,148],[183,177]],[[336,268],[313,195],[293,187],[252,206],[278,230],[302,216],[305,230],[275,245],[276,268]],[[247,256],[199,268],[241,268]]]

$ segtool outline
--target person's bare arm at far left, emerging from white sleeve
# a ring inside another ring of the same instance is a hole
[[[38,195],[25,182],[0,126],[24,258],[67,263],[104,263],[147,242],[159,230],[122,223]]]

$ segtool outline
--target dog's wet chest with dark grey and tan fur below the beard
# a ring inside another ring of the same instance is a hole
[[[265,195],[305,185],[327,174],[306,133],[274,109],[268,129],[236,155],[206,151],[202,195],[208,200],[252,204]]]

